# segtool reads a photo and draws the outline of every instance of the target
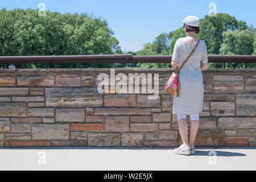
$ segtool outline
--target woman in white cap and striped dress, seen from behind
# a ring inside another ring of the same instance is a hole
[[[171,63],[175,69],[183,64],[196,46],[198,41],[196,34],[200,31],[199,18],[196,16],[187,16],[183,23],[187,36],[176,40]],[[204,85],[202,71],[207,70],[207,65],[207,47],[205,42],[200,40],[195,52],[179,72],[179,97],[176,97],[176,94],[174,95],[172,114],[177,114],[183,144],[174,149],[175,154],[195,154],[194,142],[199,127],[199,113],[202,113],[203,110]],[[189,140],[186,115],[190,116],[191,121]]]

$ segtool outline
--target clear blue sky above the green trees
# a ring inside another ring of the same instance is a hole
[[[36,9],[39,3],[45,3],[49,11],[101,16],[114,31],[122,51],[139,51],[162,32],[183,26],[187,15],[204,18],[210,10],[209,3],[216,4],[217,13],[228,13],[256,27],[255,0],[0,0],[0,8]]]

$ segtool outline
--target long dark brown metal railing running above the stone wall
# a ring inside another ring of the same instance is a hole
[[[172,56],[68,55],[68,56],[0,56],[2,64],[27,63],[170,63]],[[209,55],[208,63],[256,63],[253,55]]]

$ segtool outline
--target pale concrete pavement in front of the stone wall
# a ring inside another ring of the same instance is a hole
[[[174,148],[5,148],[0,170],[255,170],[256,147]]]

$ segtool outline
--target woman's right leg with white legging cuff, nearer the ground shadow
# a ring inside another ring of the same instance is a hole
[[[194,147],[197,130],[199,127],[199,114],[190,115],[190,139],[189,147]]]

